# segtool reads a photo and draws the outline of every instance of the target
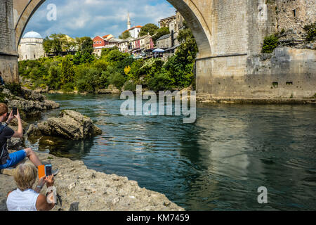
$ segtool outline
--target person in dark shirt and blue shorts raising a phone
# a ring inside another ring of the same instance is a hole
[[[11,154],[8,153],[8,139],[22,139],[23,137],[23,127],[20,113],[18,109],[15,109],[15,111],[16,115],[13,115],[13,110],[10,114],[8,114],[8,106],[4,103],[0,103],[0,122],[5,122],[0,129],[0,169],[14,167],[25,158],[29,158],[29,160],[34,164],[34,166],[38,167],[39,165],[42,165],[42,163],[31,148],[18,150],[15,153]],[[18,131],[13,131],[13,129],[8,127],[8,124],[10,124],[10,122],[14,118],[18,120]]]

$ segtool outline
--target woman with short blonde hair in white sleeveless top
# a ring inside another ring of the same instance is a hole
[[[8,193],[6,200],[8,211],[49,211],[53,209],[55,204],[48,203],[46,196],[40,194],[45,183],[47,188],[53,187],[53,176],[41,178],[33,190],[36,179],[37,169],[34,165],[25,163],[15,169],[14,180],[18,189]]]

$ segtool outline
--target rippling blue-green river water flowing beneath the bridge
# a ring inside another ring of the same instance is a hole
[[[119,96],[48,98],[91,117],[103,135],[28,146],[127,176],[185,210],[316,210],[315,105],[197,103],[197,122],[183,124],[176,116],[122,116]],[[268,204],[258,203],[261,186]]]

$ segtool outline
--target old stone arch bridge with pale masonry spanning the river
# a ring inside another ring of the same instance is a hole
[[[0,75],[6,82],[18,82],[18,44],[29,18],[44,1],[0,1]],[[261,54],[268,34],[299,34],[304,25],[315,22],[314,0],[168,1],[197,40],[201,98],[302,98],[316,93],[315,45]]]

